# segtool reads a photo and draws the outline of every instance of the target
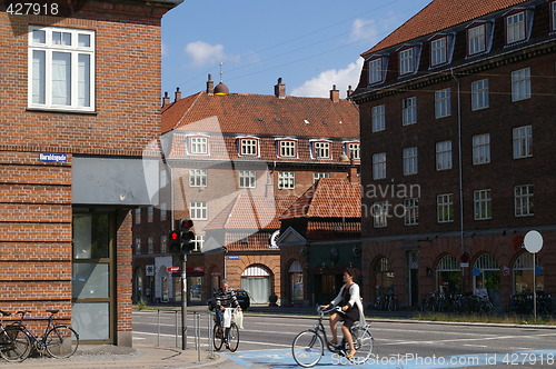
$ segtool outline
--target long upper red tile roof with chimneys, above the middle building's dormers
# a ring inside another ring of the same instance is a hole
[[[215,118],[222,133],[359,137],[359,110],[348,100],[332,102],[328,98],[291,96],[279,99],[274,94],[248,93],[209,96],[205,91],[165,107],[162,133]]]

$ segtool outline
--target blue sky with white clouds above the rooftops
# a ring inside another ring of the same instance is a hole
[[[162,93],[187,97],[207,76],[230,92],[346,97],[360,54],[430,0],[185,0],[162,18]],[[221,78],[220,78],[220,63]]]

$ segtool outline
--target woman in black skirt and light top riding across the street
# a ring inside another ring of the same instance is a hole
[[[341,302],[341,312],[335,312],[330,316],[330,330],[332,333],[331,345],[337,346],[338,339],[336,335],[336,326],[338,321],[344,321],[341,332],[349,345],[349,352],[346,357],[350,358],[355,355],[354,338],[351,337],[350,328],[356,321],[360,321],[361,327],[365,326],[365,313],[363,310],[361,297],[359,295],[359,285],[354,282],[355,270],[347,268],[344,272],[344,282],[338,296],[324,309],[329,309],[331,306],[338,306]]]

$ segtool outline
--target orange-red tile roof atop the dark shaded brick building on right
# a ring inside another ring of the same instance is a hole
[[[434,34],[446,28],[527,1],[529,0],[434,0],[361,56],[365,57],[421,36]]]

